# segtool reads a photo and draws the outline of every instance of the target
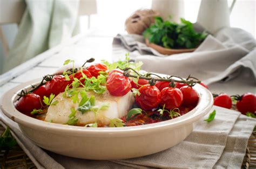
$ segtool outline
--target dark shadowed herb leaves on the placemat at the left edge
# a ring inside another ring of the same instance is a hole
[[[0,149],[7,150],[15,146],[16,144],[17,141],[14,137],[12,137],[10,128],[9,126],[7,126],[7,128],[0,137]]]

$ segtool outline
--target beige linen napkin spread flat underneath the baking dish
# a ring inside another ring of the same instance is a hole
[[[140,158],[124,160],[85,160],[62,156],[33,145],[23,135],[17,123],[11,121],[2,112],[1,123],[9,125],[18,144],[28,154],[38,168],[120,168],[120,167],[241,167],[248,138],[256,120],[239,112],[220,107],[212,122],[201,118],[194,123],[194,130],[180,144],[165,151]],[[153,146],[153,145],[152,145]]]

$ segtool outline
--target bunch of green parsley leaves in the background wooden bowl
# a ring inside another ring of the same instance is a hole
[[[194,31],[193,24],[188,20],[180,18],[181,24],[164,21],[156,17],[154,24],[148,27],[143,36],[154,43],[165,48],[196,48],[206,38],[206,33]]]

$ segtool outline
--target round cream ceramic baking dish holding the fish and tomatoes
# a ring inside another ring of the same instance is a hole
[[[113,160],[146,156],[180,143],[193,130],[193,123],[210,111],[213,97],[201,85],[194,86],[199,94],[196,108],[187,114],[164,122],[121,128],[85,128],[40,121],[15,109],[14,101],[23,88],[39,80],[23,83],[6,92],[1,109],[17,122],[22,132],[43,149],[65,156]]]

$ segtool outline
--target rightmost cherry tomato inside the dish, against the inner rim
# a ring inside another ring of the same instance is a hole
[[[185,107],[196,106],[199,100],[197,91],[190,86],[183,86],[180,88],[183,94],[183,105]]]

